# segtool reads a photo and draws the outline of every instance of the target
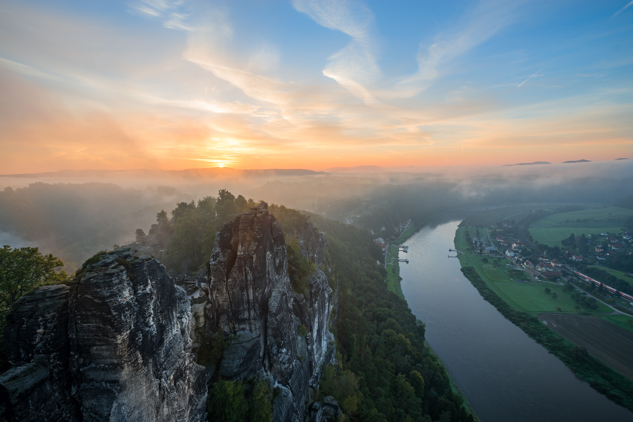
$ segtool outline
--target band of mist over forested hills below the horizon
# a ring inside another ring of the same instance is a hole
[[[630,160],[531,166],[434,169],[60,171],[4,175],[0,184],[0,239],[38,246],[72,271],[94,252],[148,232],[156,213],[177,202],[235,196],[283,204],[354,225],[394,227],[448,209],[513,204],[611,206],[633,194]],[[359,171],[360,170],[360,171]],[[405,171],[408,170],[408,171]],[[230,216],[227,216],[229,218]]]

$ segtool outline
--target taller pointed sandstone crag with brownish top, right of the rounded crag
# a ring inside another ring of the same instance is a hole
[[[301,250],[320,264],[325,235],[311,224],[302,234]],[[310,378],[334,350],[334,337],[327,331],[332,289],[325,274],[317,270],[310,277],[309,297],[292,290],[284,235],[261,204],[225,223],[197,284],[206,304],[204,335],[196,342],[211,347],[218,332],[228,339],[218,372],[210,368],[210,375],[245,380],[263,371],[279,388],[273,420],[303,420]],[[299,334],[301,325],[308,335]]]

